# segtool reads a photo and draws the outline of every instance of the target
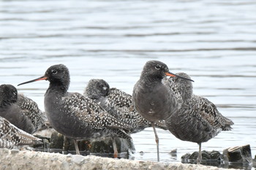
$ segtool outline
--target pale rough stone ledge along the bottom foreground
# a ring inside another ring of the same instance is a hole
[[[209,169],[214,166],[203,166],[184,163],[157,163],[151,161],[131,161],[127,159],[102,158],[94,155],[63,155],[60,153],[34,152],[29,150],[0,149],[0,169]]]

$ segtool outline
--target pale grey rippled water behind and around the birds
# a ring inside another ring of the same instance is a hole
[[[69,67],[69,90],[91,78],[132,93],[148,60],[187,72],[194,93],[217,105],[235,125],[203,150],[251,144],[256,154],[256,1],[0,1],[1,84]],[[43,107],[48,82],[18,87]],[[197,144],[159,131],[162,162],[181,161]],[[132,135],[135,160],[156,161],[151,128]],[[177,157],[168,154],[178,149]],[[144,155],[138,152],[143,151]]]

